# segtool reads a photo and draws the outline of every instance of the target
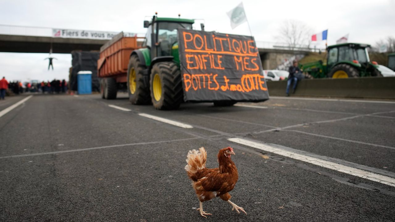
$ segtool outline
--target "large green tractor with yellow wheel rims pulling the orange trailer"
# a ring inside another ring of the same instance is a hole
[[[127,72],[129,101],[156,109],[177,109],[183,101],[177,28],[192,29],[194,20],[152,17],[143,48],[130,55]],[[203,26],[202,26],[203,27]]]

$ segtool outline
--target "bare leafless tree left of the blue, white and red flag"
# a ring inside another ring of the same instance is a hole
[[[279,38],[286,42],[288,47],[310,47],[311,28],[297,20],[286,20],[280,27]]]

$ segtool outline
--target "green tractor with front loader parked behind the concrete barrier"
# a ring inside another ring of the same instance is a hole
[[[367,48],[361,43],[342,43],[327,47],[326,64],[319,60],[301,64],[301,68],[313,78],[353,78],[382,76],[377,62],[371,62]]]

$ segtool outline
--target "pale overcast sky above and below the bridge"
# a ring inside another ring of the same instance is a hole
[[[240,0],[0,0],[0,24],[78,30],[145,33],[145,16],[204,19],[207,31],[250,35],[248,24],[231,29],[226,12]],[[346,34],[349,41],[374,44],[395,36],[395,0],[244,0],[256,41],[278,42],[287,19],[305,23],[312,34],[328,29],[328,45]],[[197,21],[201,23],[200,21]],[[67,79],[70,54],[53,54],[54,71],[47,71],[48,54],[0,53],[0,75],[9,81]]]

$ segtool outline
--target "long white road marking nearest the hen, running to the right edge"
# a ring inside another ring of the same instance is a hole
[[[242,144],[242,145],[246,145],[249,147],[254,147],[256,149],[260,149],[260,150],[263,150],[266,152],[272,152],[272,153],[275,153],[275,154],[278,154],[281,156],[286,156],[289,158],[293,158],[296,160],[301,160],[303,162],[314,164],[316,166],[321,166],[321,167],[325,167],[328,169],[333,169],[333,170],[336,170],[336,171],[339,171],[342,173],[347,173],[347,174],[350,174],[353,176],[361,177],[364,179],[368,179],[368,180],[375,181],[375,182],[380,182],[382,184],[387,184],[389,186],[395,187],[395,179],[391,178],[391,177],[383,176],[383,175],[376,174],[376,173],[371,173],[369,171],[345,166],[342,164],[334,163],[334,162],[327,161],[327,160],[322,160],[319,158],[299,154],[299,153],[292,152],[292,151],[286,151],[284,149],[280,149],[280,148],[273,147],[273,146],[263,144],[263,143],[257,143],[257,142],[250,141],[247,139],[241,139],[241,138],[234,137],[234,138],[228,138],[228,140],[235,142],[235,143]]]

